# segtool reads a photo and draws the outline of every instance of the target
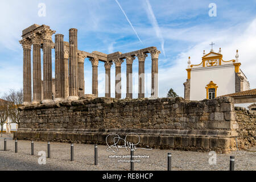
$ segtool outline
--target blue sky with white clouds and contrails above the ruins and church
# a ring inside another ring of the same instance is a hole
[[[46,16],[38,16],[40,3],[46,5]],[[209,16],[210,3],[216,4],[217,16]],[[256,88],[255,0],[13,0],[1,1],[0,9],[0,96],[9,89],[22,88],[23,52],[18,41],[22,30],[34,23],[47,24],[56,34],[64,34],[65,41],[68,41],[69,28],[77,28],[79,49],[86,52],[125,53],[157,47],[162,52],[159,56],[159,97],[166,97],[170,88],[183,97],[188,56],[192,64],[199,64],[203,50],[210,51],[211,42],[215,43],[214,51],[221,47],[224,60],[234,59],[236,49],[239,50],[241,69],[251,89]],[[149,75],[150,56],[145,67]],[[102,97],[104,64],[100,63],[98,69],[99,96]],[[138,73],[137,59],[133,73]],[[126,63],[123,63],[122,74],[122,97],[125,97]],[[114,65],[111,76],[114,96]],[[134,93],[137,93],[137,78],[135,75]],[[149,83],[146,96],[150,96],[150,75],[146,82]],[[85,93],[92,93],[92,66],[88,59],[85,60]]]

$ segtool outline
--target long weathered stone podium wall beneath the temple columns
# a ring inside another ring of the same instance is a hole
[[[19,109],[20,129],[14,136],[19,139],[105,144],[110,133],[134,132],[142,138],[141,145],[150,147],[236,149],[238,125],[230,97],[203,101],[96,98]]]

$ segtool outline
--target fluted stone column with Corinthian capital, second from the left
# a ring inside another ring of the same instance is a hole
[[[42,71],[41,71],[41,43],[42,37],[39,34],[32,34],[33,44],[33,104],[40,104],[42,101]]]

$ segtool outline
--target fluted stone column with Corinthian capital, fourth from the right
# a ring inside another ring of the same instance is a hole
[[[115,98],[120,99],[122,94],[121,86],[121,65],[123,63],[122,59],[114,60],[115,63]]]

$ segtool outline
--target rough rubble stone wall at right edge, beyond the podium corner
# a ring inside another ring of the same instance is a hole
[[[256,144],[256,115],[245,107],[235,107],[236,121],[239,125],[237,129],[238,148],[246,150]]]

